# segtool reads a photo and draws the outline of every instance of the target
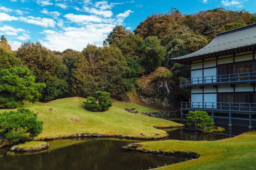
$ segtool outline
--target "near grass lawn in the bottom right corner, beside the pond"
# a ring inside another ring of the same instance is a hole
[[[256,131],[217,141],[141,142],[139,149],[197,152],[198,159],[161,169],[256,169]]]

